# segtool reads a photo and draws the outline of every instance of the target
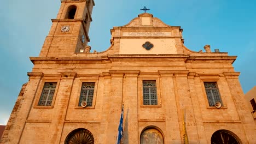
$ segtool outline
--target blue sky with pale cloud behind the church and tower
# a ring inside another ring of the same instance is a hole
[[[38,56],[60,8],[59,0],[1,1],[0,9],[0,125],[6,124],[27,72]],[[256,86],[256,1],[254,0],[95,0],[89,45],[104,51],[113,26],[123,26],[143,11],[171,26],[181,26],[185,45],[193,51],[206,44],[230,56],[243,91]]]

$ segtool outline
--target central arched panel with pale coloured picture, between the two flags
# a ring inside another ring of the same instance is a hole
[[[159,130],[155,128],[147,128],[141,133],[141,144],[146,143],[164,144],[164,137]]]

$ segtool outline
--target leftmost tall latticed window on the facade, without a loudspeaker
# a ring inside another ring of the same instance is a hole
[[[39,106],[51,106],[57,82],[45,82],[44,88],[38,102]]]

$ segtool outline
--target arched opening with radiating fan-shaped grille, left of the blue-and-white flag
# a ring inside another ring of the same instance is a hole
[[[76,143],[94,144],[94,136],[87,129],[75,129],[68,134],[65,144]]]

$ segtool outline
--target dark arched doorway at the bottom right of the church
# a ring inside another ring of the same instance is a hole
[[[213,133],[211,138],[212,144],[240,144],[238,137],[229,130],[218,130]]]

